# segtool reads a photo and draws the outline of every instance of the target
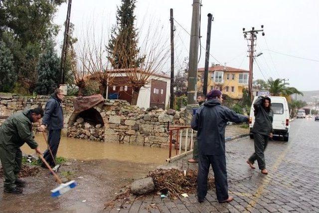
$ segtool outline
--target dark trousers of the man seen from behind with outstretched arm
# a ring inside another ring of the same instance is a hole
[[[210,165],[213,168],[217,200],[219,202],[228,199],[228,184],[225,155],[201,155],[198,156],[197,196],[203,200],[207,195],[207,177]]]

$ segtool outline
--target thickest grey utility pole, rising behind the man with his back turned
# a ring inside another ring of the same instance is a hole
[[[191,18],[187,103],[195,104],[197,95],[197,60],[199,46],[199,13],[200,0],[193,0],[193,13]]]

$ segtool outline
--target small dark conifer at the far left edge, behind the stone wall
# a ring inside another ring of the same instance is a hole
[[[14,73],[13,55],[2,40],[0,40],[0,76],[0,91],[10,92],[17,75]]]

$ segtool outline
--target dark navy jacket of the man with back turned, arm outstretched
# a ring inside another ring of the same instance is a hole
[[[199,154],[225,154],[225,128],[228,121],[247,122],[248,117],[221,106],[217,99],[208,100],[198,109],[191,121],[191,128],[197,131]]]

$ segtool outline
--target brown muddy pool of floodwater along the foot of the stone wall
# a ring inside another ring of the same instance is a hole
[[[42,152],[47,145],[42,133],[35,136]],[[27,144],[21,148],[25,154],[34,153]],[[135,163],[163,164],[168,158],[168,148],[142,147],[61,137],[57,156],[77,160],[110,159]]]

